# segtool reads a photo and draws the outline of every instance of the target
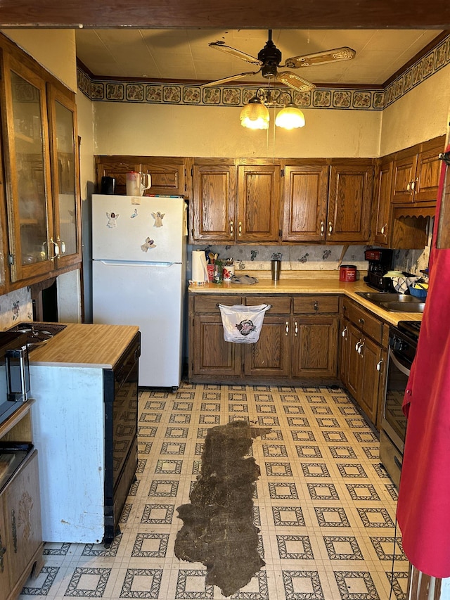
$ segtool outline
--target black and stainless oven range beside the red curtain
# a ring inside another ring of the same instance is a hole
[[[380,461],[397,487],[406,435],[406,417],[401,405],[416,355],[419,332],[420,321],[399,321],[397,327],[390,327],[385,404],[380,428]]]

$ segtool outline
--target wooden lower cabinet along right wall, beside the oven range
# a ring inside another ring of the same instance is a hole
[[[350,300],[342,301],[340,379],[376,428],[384,397],[388,328]],[[347,318],[348,317],[348,318]]]

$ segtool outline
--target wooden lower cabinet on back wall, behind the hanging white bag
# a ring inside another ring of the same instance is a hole
[[[271,309],[264,315],[257,343],[224,341],[219,304],[265,303]],[[191,293],[189,378],[195,382],[284,384],[314,379],[315,384],[336,383],[338,297],[331,305],[326,301],[325,314],[320,305],[320,300],[309,305],[309,300],[305,304],[290,295],[231,298]],[[295,307],[301,312],[297,314]]]

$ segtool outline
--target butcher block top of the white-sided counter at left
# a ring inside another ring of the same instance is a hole
[[[30,364],[112,369],[138,331],[134,325],[69,323],[30,352]]]

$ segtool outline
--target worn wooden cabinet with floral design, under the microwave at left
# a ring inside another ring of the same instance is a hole
[[[0,425],[1,442],[32,440],[30,407],[23,404]],[[31,446],[31,445],[30,445]],[[31,446],[32,447],[32,446]],[[37,450],[31,449],[0,490],[0,600],[15,600],[44,565]]]

